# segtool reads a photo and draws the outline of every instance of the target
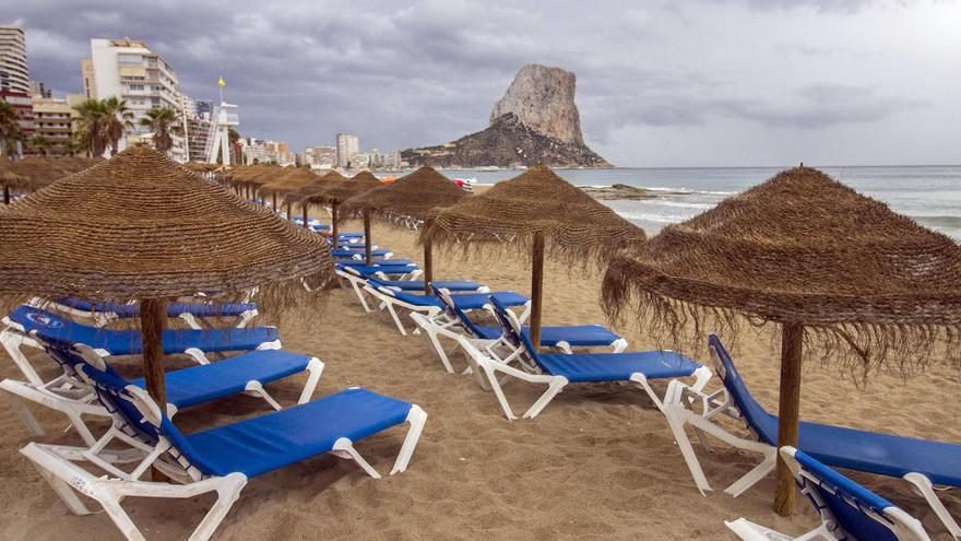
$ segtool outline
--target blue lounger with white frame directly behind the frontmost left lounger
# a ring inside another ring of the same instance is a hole
[[[109,414],[95,402],[92,403],[91,390],[78,375],[78,371],[81,366],[91,364],[117,378],[122,379],[122,376],[104,358],[84,356],[81,350],[60,343],[44,343],[44,349],[62,368],[61,377],[47,385],[4,379],[0,381],[0,389],[9,393],[14,410],[35,436],[43,436],[44,430],[26,408],[24,400],[66,414],[83,440],[87,445],[94,445],[96,438],[83,415]],[[281,404],[263,386],[304,372],[308,372],[309,376],[297,403],[310,400],[320,380],[323,363],[316,357],[281,350],[261,350],[212,364],[170,371],[166,373],[167,412],[173,415],[183,408],[240,393],[260,397],[272,408],[280,410]],[[144,387],[143,379],[127,380],[127,384]]]

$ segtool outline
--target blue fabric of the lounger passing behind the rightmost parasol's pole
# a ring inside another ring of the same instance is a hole
[[[771,415],[747,389],[721,340],[709,343],[724,365],[724,387],[761,440],[778,445],[778,416]],[[916,471],[935,484],[961,486],[961,445],[818,423],[798,425],[798,449],[832,467],[895,478]]]

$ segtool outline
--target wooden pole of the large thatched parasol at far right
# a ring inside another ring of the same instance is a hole
[[[778,448],[797,447],[797,424],[800,416],[800,357],[804,349],[804,326],[781,326],[781,399],[778,405]],[[778,454],[778,482],[774,510],[782,517],[794,509],[794,475]]]

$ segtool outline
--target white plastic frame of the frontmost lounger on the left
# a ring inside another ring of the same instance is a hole
[[[157,405],[146,395],[146,391],[132,386],[127,387],[127,390],[138,398],[138,409],[144,417],[158,424]],[[424,410],[412,404],[406,417],[410,428],[391,469],[391,475],[407,469],[426,420],[427,414]],[[130,446],[130,450],[126,454],[107,450],[107,446],[111,443],[124,443]],[[133,451],[132,457],[130,451]],[[124,432],[116,422],[110,431],[88,449],[31,443],[20,452],[36,466],[71,511],[76,515],[93,513],[78,497],[76,493],[96,499],[129,540],[143,540],[144,537],[120,505],[127,496],[182,499],[216,492],[216,502],[189,538],[191,541],[201,541],[210,539],[247,484],[247,475],[239,472],[224,477],[203,477],[197,468],[186,462],[182,455],[179,457],[179,461],[173,459],[174,455],[180,454],[165,437],[161,437],[156,443],[147,444]],[[340,458],[352,459],[370,477],[380,478],[380,474],[357,452],[353,442],[347,438],[337,439],[331,454]],[[139,463],[131,472],[115,466],[138,460]],[[92,462],[98,469],[106,471],[107,474],[93,474],[80,467],[78,462]],[[168,478],[182,484],[141,480],[141,477],[151,467],[156,467]]]

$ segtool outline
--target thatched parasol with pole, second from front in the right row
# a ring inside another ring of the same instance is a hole
[[[511,246],[532,255],[531,343],[541,343],[544,252],[586,266],[606,264],[618,251],[642,245],[644,232],[550,168],[538,165],[484,193],[431,212],[420,242],[484,249]]]

